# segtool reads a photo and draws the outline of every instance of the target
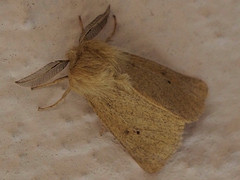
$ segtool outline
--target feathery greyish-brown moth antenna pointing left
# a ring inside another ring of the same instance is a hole
[[[58,60],[51,62],[36,71],[35,73],[16,81],[16,83],[21,86],[27,87],[38,86],[61,72],[67,66],[68,62],[68,60]]]

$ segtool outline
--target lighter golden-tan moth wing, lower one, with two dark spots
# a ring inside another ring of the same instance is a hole
[[[158,171],[176,151],[184,121],[133,90],[115,89],[103,98],[87,96],[102,123],[147,172]]]

